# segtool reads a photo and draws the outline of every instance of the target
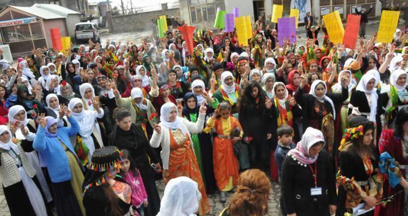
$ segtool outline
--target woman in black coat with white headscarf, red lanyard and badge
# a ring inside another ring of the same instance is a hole
[[[336,180],[321,131],[307,128],[282,164],[282,196],[288,216],[330,216],[336,211]]]

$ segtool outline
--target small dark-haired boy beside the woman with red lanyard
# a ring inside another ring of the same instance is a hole
[[[275,150],[275,160],[278,166],[279,178],[281,177],[282,162],[289,150],[294,149],[296,144],[292,142],[293,129],[289,125],[281,125],[276,130],[278,135],[278,145]]]

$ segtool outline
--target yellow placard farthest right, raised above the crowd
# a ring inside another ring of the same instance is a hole
[[[380,26],[378,27],[377,42],[393,42],[394,33],[397,29],[400,11],[383,10],[381,13]]]

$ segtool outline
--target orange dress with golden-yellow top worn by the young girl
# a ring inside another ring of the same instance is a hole
[[[225,124],[228,123],[227,121],[230,122],[229,125]],[[224,121],[223,124],[222,118],[214,120],[214,127],[217,134],[228,136],[236,127],[239,127],[242,132],[242,127],[236,118],[229,117],[227,121]],[[223,191],[228,185],[230,177],[232,177],[232,184],[237,184],[239,164],[238,159],[235,157],[234,147],[230,139],[214,137],[212,162],[213,164],[217,164],[214,166],[214,175],[217,187],[220,191]]]

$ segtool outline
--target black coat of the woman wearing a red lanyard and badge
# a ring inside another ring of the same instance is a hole
[[[314,188],[314,179],[310,167],[301,166],[291,155],[287,155],[282,164],[282,197],[285,203],[283,212],[296,213],[297,216],[330,216],[329,205],[337,205],[336,179],[333,162],[323,149],[315,163],[317,169],[317,187],[322,195],[310,196]]]

